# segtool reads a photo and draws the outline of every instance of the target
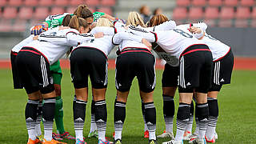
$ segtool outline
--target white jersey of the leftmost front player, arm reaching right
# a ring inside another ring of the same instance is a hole
[[[50,62],[50,65],[57,62],[66,54],[67,50],[72,46],[78,46],[79,43],[94,39],[92,34],[79,34],[75,29],[59,30],[56,27],[47,30],[38,37],[38,41],[33,41],[24,47],[33,47],[40,51]]]

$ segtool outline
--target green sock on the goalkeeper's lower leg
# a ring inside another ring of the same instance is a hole
[[[55,123],[57,126],[58,134],[65,133],[64,124],[63,124],[63,102],[62,97],[56,97],[55,103]]]

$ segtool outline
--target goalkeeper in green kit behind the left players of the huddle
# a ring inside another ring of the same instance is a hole
[[[63,23],[64,17],[68,13],[64,14],[56,14],[56,15],[50,15],[46,18],[45,22],[42,22],[42,24],[39,24],[37,26],[34,26],[31,29],[31,34],[38,35],[42,33],[43,30],[48,30],[48,28],[54,28],[57,26],[67,26],[67,24]],[[78,8],[74,11],[74,14],[70,14],[71,16],[77,15],[80,18],[86,19],[86,22],[88,24],[92,24],[93,22],[96,22],[98,18],[100,18],[102,15],[105,15],[102,12],[94,12],[92,13],[89,8],[86,5],[80,5]],[[106,14],[108,15],[108,14]],[[73,136],[71,136],[66,130],[64,129],[63,124],[63,108],[62,108],[62,97],[61,97],[61,81],[62,81],[62,69],[60,66],[60,62],[55,62],[50,66],[51,73],[54,78],[54,87],[56,91],[56,104],[55,104],[55,123],[57,126],[57,133],[53,133],[53,138],[56,140],[62,140],[62,138],[66,139],[75,139]],[[42,105],[41,105],[42,106]],[[41,129],[40,129],[40,122],[42,119],[41,114],[41,107],[38,107],[38,120],[37,120],[37,126],[36,131],[38,133],[38,136],[41,135]],[[94,110],[92,110],[94,111]],[[94,114],[92,114],[92,118],[94,118]],[[92,134],[91,134],[92,133]],[[97,128],[95,122],[92,122],[91,124],[91,130],[90,130],[90,136],[96,136],[97,134]]]

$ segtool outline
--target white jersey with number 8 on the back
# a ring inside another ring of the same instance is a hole
[[[182,52],[189,46],[205,44],[187,31],[186,29],[155,30],[153,33],[146,30],[131,30],[132,33],[146,38],[149,42],[158,43],[162,50],[176,58],[176,62],[179,61]]]

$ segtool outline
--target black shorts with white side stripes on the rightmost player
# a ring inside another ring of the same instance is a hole
[[[220,91],[223,84],[230,84],[233,66],[234,55],[230,49],[223,58],[214,62],[211,81],[212,86],[209,91]]]

